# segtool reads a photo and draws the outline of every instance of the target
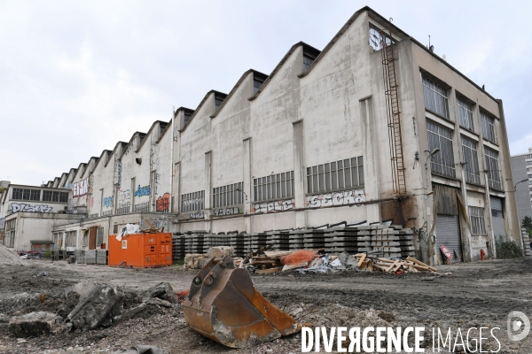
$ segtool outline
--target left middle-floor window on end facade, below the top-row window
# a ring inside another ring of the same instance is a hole
[[[428,150],[440,149],[430,158],[430,168],[434,173],[455,178],[454,154],[452,150],[452,131],[426,121],[428,131]]]

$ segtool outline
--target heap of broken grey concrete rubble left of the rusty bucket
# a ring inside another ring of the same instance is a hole
[[[142,315],[142,312],[160,313],[160,307],[173,307],[179,302],[168,282],[137,294],[104,283],[82,281],[66,289],[60,297],[54,312],[47,309],[11,318],[2,316],[0,324],[19,338],[56,335],[76,329],[111,327],[113,323]]]

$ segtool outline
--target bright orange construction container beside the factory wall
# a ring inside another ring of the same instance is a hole
[[[172,234],[109,235],[109,266],[140,268],[172,265]]]

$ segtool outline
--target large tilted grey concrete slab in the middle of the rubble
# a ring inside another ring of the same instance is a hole
[[[68,314],[68,319],[74,328],[88,330],[99,327],[107,317],[117,315],[123,309],[124,293],[119,288],[112,288],[106,284],[96,284],[90,294],[86,296]],[[118,309],[118,310],[117,310]]]

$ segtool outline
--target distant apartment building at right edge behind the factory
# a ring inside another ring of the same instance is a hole
[[[512,160],[512,176],[515,186],[515,202],[520,223],[528,216],[532,218],[532,148],[528,153],[514,155]]]

